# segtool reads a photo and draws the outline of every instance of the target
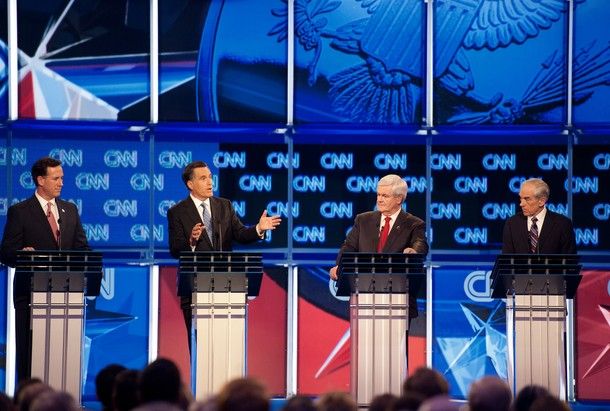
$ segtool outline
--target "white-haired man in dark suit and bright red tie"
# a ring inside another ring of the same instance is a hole
[[[407,183],[389,174],[377,183],[377,211],[358,214],[343,242],[337,264],[344,252],[427,254],[425,223],[402,209]],[[337,279],[337,266],[330,269]]]

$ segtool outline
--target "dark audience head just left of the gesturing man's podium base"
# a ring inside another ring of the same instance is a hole
[[[166,358],[158,358],[144,368],[140,376],[140,402],[163,401],[178,404],[182,381],[176,364]]]

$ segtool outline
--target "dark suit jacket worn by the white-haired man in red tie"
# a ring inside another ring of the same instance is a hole
[[[339,264],[341,255],[344,252],[377,252],[380,221],[381,213],[379,211],[358,214],[354,226],[339,250],[337,264]],[[382,252],[402,253],[407,247],[413,248],[420,254],[425,255],[428,253],[426,225],[421,219],[401,210],[398,217],[396,217],[392,230],[388,234],[388,239]]]

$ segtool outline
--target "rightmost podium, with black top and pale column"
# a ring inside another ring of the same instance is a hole
[[[492,297],[506,298],[508,379],[515,394],[536,384],[566,398],[566,299],[582,276],[577,255],[501,254]]]

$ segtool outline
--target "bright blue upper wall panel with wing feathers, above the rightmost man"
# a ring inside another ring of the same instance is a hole
[[[563,124],[568,3],[435,4],[436,124]]]

